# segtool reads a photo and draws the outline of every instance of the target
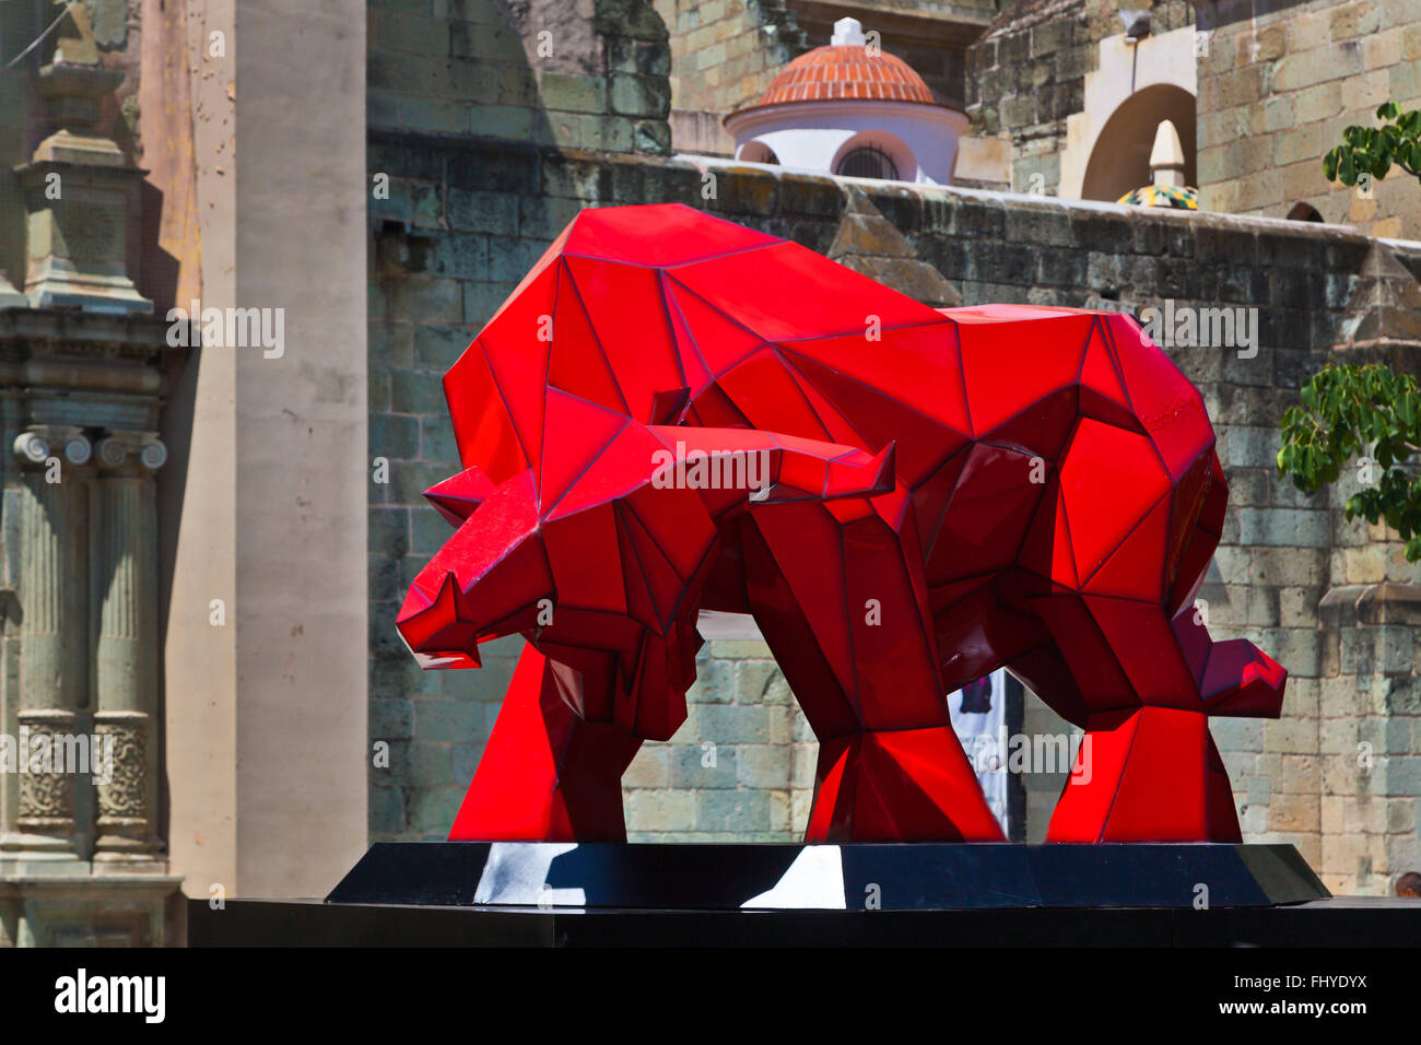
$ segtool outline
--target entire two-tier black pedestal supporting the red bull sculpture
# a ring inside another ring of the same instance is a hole
[[[377,845],[323,903],[189,901],[188,941],[485,947],[1403,947],[1292,846]]]

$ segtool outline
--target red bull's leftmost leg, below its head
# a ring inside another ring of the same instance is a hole
[[[554,664],[529,644],[449,839],[625,842],[621,778],[639,748],[568,708]]]

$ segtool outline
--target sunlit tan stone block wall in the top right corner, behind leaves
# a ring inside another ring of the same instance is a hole
[[[1283,218],[1299,202],[1374,236],[1421,237],[1421,183],[1400,168],[1370,193],[1322,158],[1384,101],[1421,105],[1418,0],[1219,0],[1198,6],[1201,203]]]

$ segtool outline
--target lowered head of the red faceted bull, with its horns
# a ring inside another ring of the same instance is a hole
[[[550,394],[550,400],[557,392]],[[685,718],[701,593],[746,512],[894,488],[878,455],[747,429],[594,418],[547,441],[541,468],[469,468],[426,496],[458,527],[396,626],[428,668],[477,667],[522,633],[563,665],[564,700],[666,739]]]

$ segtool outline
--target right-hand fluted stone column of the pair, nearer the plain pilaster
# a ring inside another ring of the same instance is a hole
[[[112,752],[97,782],[94,862],[159,859],[158,509],[153,472],[168,449],[153,432],[112,432],[98,444],[92,557],[98,610],[94,682],[98,744]]]

